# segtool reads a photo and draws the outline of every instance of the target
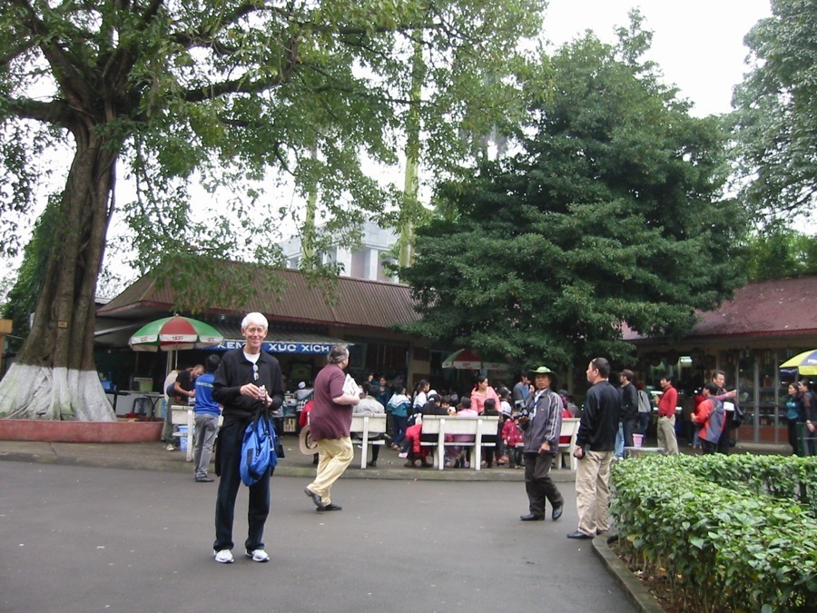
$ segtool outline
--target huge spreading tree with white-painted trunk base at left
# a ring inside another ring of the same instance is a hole
[[[184,255],[189,244],[209,256],[265,261],[279,208],[289,203],[252,191],[251,181],[273,168],[303,193],[320,184],[328,232],[399,203],[397,190],[363,172],[361,156],[393,163],[409,113],[421,118],[425,163],[447,168],[477,147],[516,99],[507,65],[518,38],[538,31],[542,4],[0,3],[6,252],[19,247],[15,221],[48,170],[48,154],[57,143],[74,152],[49,209],[52,249],[34,327],[0,382],[0,417],[113,419],[95,374],[94,289],[120,163],[138,191],[124,211],[143,268],[181,252],[172,269],[162,267],[164,277],[198,272],[195,281],[206,280],[201,267],[213,260]],[[426,67],[418,96],[409,95],[417,50]],[[231,187],[206,222],[191,219],[193,180],[210,191]]]

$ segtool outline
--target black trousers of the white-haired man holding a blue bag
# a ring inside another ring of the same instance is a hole
[[[219,494],[216,499],[216,539],[212,549],[232,549],[232,523],[235,516],[235,498],[241,488],[241,443],[244,424],[231,422],[219,431]],[[250,508],[247,511],[249,529],[244,542],[248,551],[264,548],[264,523],[270,514],[271,470],[250,486]]]

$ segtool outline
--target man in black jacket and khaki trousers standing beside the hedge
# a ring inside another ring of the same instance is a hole
[[[592,539],[610,528],[607,519],[607,501],[610,498],[610,463],[615,450],[621,401],[618,391],[610,385],[610,363],[596,358],[587,367],[585,410],[576,434],[579,459],[576,470],[576,511],[578,529],[568,539]]]

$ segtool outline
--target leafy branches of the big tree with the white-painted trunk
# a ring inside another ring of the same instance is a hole
[[[519,39],[538,32],[544,5],[2,3],[4,249],[13,250],[15,221],[32,204],[38,154],[64,147],[69,134],[82,149],[89,133],[136,183],[136,200],[115,206],[143,272],[191,247],[208,258],[278,262],[271,242],[300,215],[289,198],[281,202],[284,181],[301,195],[320,187],[319,248],[353,242],[343,228],[399,205],[399,190],[381,186],[363,161],[396,162],[408,114],[423,126],[424,163],[443,173],[467,161],[491,126],[518,115],[508,66]],[[426,73],[413,100],[416,45]],[[210,210],[192,201],[192,184],[219,198]]]

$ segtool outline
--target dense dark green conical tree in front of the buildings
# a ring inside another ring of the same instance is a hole
[[[546,61],[524,152],[440,191],[447,216],[418,231],[400,271],[422,314],[414,331],[523,364],[622,359],[625,324],[684,333],[741,282],[727,133],[640,62],[639,24]]]

